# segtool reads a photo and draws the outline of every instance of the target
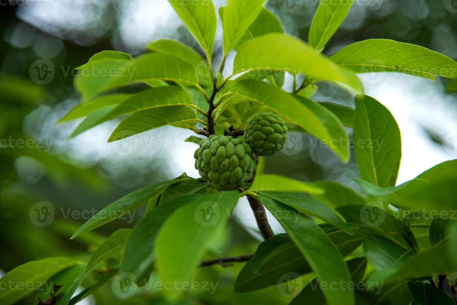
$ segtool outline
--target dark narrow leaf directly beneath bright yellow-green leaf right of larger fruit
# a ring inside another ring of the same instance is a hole
[[[354,234],[351,228],[346,225],[345,222],[340,217],[338,217],[334,211],[330,210],[326,205],[320,203],[309,195],[282,191],[262,191],[260,194],[288,205],[305,215],[319,218],[333,226],[345,230],[349,234]]]

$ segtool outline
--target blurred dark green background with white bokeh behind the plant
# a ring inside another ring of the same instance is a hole
[[[74,68],[94,53],[112,49],[137,55],[143,52],[147,42],[162,37],[180,40],[202,53],[165,0],[133,0],[123,9],[118,2],[2,3],[0,139],[4,140],[2,144],[7,143],[5,141],[10,144],[0,148],[1,274],[39,258],[84,256],[117,228],[133,227],[144,213],[139,210],[133,221],[112,221],[69,241],[86,219],[66,216],[68,211],[100,210],[143,185],[170,179],[182,172],[197,176],[192,159],[195,147],[183,144],[191,131],[172,127],[149,131],[151,137],[164,143],[169,140],[170,145],[148,147],[144,143],[134,143],[138,145],[134,152],[125,154],[106,143],[116,122],[106,122],[69,141],[65,139],[78,122],[55,124],[78,103],[79,96],[73,88]],[[224,2],[215,1],[217,7]],[[324,53],[330,55],[347,44],[364,39],[389,38],[425,46],[457,59],[457,6],[452,6],[452,0],[448,2],[449,5],[446,0],[355,0]],[[285,32],[306,41],[318,4],[317,0],[269,0],[266,7],[279,18]],[[222,56],[220,27],[218,31],[216,60]],[[46,84],[37,84],[33,82],[36,77],[32,76],[31,67],[43,59],[52,62],[54,76]],[[228,58],[224,75],[231,72],[232,59],[233,54]],[[402,81],[404,88],[395,86]],[[291,83],[291,79],[286,78],[284,88]],[[319,90],[312,97],[314,100],[353,106],[352,95],[329,84],[318,85]],[[382,84],[373,84],[368,79],[365,85],[368,94],[378,97],[399,120],[404,146],[409,145],[404,149],[407,161],[404,161],[406,165],[400,172],[403,178],[399,182],[413,178],[421,169],[455,157],[444,152],[446,142],[442,139],[447,132],[457,129],[457,96],[444,94],[445,84],[441,79],[432,83],[387,76]],[[402,95],[402,91],[406,92]],[[396,108],[400,104],[403,106]],[[416,125],[411,127],[411,132],[402,128],[402,124],[410,123],[407,119],[402,121],[400,115],[404,113],[414,114]],[[351,135],[351,129],[347,131]],[[25,145],[27,140],[32,144]],[[354,157],[348,164],[342,164],[327,148],[312,145],[314,140],[308,135],[291,134],[283,153],[268,158],[266,172],[304,181],[335,180],[356,188],[352,180],[358,178]],[[40,227],[31,221],[32,207],[43,200],[52,203],[55,219],[50,225]],[[247,207],[242,202],[237,209]],[[274,226],[281,232],[279,225]],[[259,236],[254,220],[229,221],[220,241],[208,257],[255,251]],[[233,294],[233,282],[241,266],[202,268],[198,277],[219,281],[217,292],[197,293],[183,304],[287,303],[288,300],[277,298],[276,287],[250,294]],[[154,304],[166,304],[158,292],[143,291],[142,294],[146,297],[121,300],[112,293],[110,285],[105,285],[84,304],[151,304],[153,301]],[[31,304],[33,297],[22,303]]]

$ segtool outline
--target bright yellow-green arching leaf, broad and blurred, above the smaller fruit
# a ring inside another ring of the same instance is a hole
[[[281,33],[257,37],[238,48],[234,72],[250,69],[282,69],[293,75],[307,74],[320,80],[339,82],[361,92],[361,84],[355,74],[316,53],[305,42]]]

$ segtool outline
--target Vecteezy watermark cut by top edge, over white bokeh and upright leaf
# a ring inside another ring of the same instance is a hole
[[[210,2],[212,0],[111,0],[111,3],[116,11],[122,14],[128,14],[135,11],[138,7],[138,3],[142,1],[144,6],[209,6],[213,4]]]

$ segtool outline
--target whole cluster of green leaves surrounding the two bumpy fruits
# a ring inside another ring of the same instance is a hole
[[[457,63],[424,47],[382,39],[356,42],[328,58],[321,55],[351,1],[322,1],[305,43],[282,32],[276,17],[262,7],[263,0],[228,0],[226,7],[219,10],[223,60],[215,72],[211,60],[217,24],[213,3],[170,3],[206,58],[190,47],[165,39],[150,43],[146,49],[152,52],[134,59],[114,51],[95,54],[80,67],[81,74],[75,78],[81,103],[60,120],[85,117],[70,137],[120,116],[127,117],[112,132],[109,142],[165,125],[209,136],[230,126],[241,130],[247,116],[267,110],[296,130],[326,143],[342,162],[350,157],[349,146],[344,145],[349,141],[344,126],[354,129],[355,142],[382,140],[379,150],[371,145],[354,149],[362,192],[331,181],[307,184],[260,173],[241,193],[217,192],[183,174],[122,197],[81,226],[73,237],[147,205],[145,216],[132,230],[114,232],[88,261],[47,258],[26,263],[7,273],[0,285],[11,279],[66,283],[57,291],[56,304],[75,304],[118,273],[132,273],[138,286],[147,283],[153,270],[163,282],[190,281],[238,198],[247,195],[277,216],[287,234],[260,243],[238,274],[235,292],[276,285],[287,273],[314,272],[316,281],[321,283],[385,285],[376,294],[372,290],[313,289],[309,284],[291,304],[407,305],[411,301],[435,304],[438,299],[442,304],[455,304],[442,288],[449,285],[446,275],[457,272],[457,227],[441,218],[412,220],[404,215],[424,208],[452,210],[457,163],[441,163],[396,186],[401,158],[398,125],[383,105],[362,94],[355,73],[399,72],[429,79],[435,79],[435,75],[456,78]],[[225,58],[232,50],[236,50],[233,74],[223,78]],[[82,73],[99,68],[118,74]],[[128,77],[126,71],[133,73]],[[294,78],[292,92],[281,88],[285,72]],[[244,74],[232,79],[240,73]],[[302,84],[297,84],[298,75],[304,75]],[[357,93],[356,108],[309,99],[318,81],[333,82]],[[127,85],[139,83],[146,88],[122,93]],[[337,144],[332,144],[335,139]],[[202,204],[218,211],[218,221],[213,226],[202,226],[204,215],[195,212]],[[370,226],[367,221],[371,218],[361,217],[361,211],[374,208],[382,211],[385,219]],[[291,212],[299,217],[281,217]],[[94,273],[102,276],[71,298],[83,280]],[[10,289],[0,294],[0,301],[12,304],[27,293],[32,290]],[[178,300],[183,291],[164,290],[164,294],[169,300]],[[43,300],[43,295],[38,296]]]

